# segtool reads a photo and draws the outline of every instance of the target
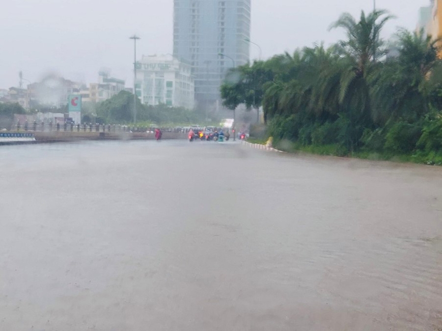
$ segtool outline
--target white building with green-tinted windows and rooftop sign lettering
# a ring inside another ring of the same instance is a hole
[[[195,84],[190,64],[172,55],[143,55],[137,61],[137,96],[144,104],[193,109]]]

